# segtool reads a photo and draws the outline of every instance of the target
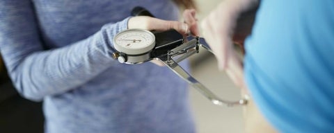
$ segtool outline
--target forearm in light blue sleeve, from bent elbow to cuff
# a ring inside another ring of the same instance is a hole
[[[38,99],[83,85],[116,63],[111,39],[126,28],[127,19],[70,46],[29,55],[15,70],[15,85],[24,96]]]

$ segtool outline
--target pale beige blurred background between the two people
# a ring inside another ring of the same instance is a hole
[[[199,21],[208,15],[221,0],[196,0],[200,12]],[[193,76],[218,96],[228,100],[240,98],[239,89],[235,87],[225,73],[219,72],[213,55],[197,55],[191,60]],[[221,107],[213,105],[196,89],[190,89],[193,115],[196,119],[198,133],[243,133],[244,121],[241,107]]]

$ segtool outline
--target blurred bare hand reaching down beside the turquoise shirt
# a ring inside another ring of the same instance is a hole
[[[241,59],[232,46],[233,30],[242,11],[257,0],[225,0],[202,21],[202,35],[214,51],[220,70],[225,70],[235,85],[246,89]]]

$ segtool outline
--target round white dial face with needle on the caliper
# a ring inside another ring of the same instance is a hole
[[[129,55],[138,55],[151,51],[155,46],[153,33],[142,29],[124,30],[113,39],[117,51]]]

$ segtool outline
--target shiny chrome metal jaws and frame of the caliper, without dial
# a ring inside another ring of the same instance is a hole
[[[203,40],[203,43],[200,43],[200,39]],[[196,78],[193,78],[189,73],[187,73],[180,65],[178,64],[182,60],[190,57],[191,55],[194,55],[200,51],[200,48],[202,47],[205,50],[212,52],[212,50],[207,46],[204,39],[200,37],[196,37],[194,39],[191,39],[190,41],[180,45],[176,46],[173,49],[168,50],[167,53],[161,53],[160,55],[155,55],[155,57],[151,57],[149,60],[160,60],[161,62],[164,62],[166,66],[172,70],[174,73],[177,74],[177,76],[180,76],[183,80],[189,83],[191,87],[197,89],[200,94],[208,98],[209,100],[214,103],[214,105],[226,105],[227,107],[233,107],[236,105],[246,105],[248,103],[248,100],[246,98],[232,101],[232,100],[223,100],[222,98],[219,98],[216,96],[212,91],[207,89],[204,85],[202,85]],[[154,51],[154,49],[152,50]],[[177,57],[175,60],[174,57]],[[145,61],[145,62],[147,62]],[[127,64],[140,64],[143,62],[125,62]]]

